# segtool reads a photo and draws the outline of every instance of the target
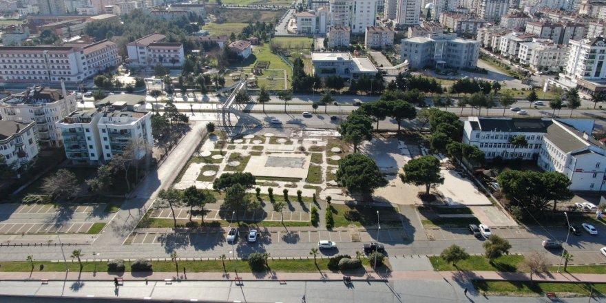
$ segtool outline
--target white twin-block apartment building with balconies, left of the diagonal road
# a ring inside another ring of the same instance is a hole
[[[136,159],[151,153],[151,112],[145,96],[111,95],[56,122],[65,140],[65,155],[74,164],[100,165],[134,147]]]

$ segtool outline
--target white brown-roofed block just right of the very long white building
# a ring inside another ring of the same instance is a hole
[[[127,63],[131,66],[154,67],[158,63],[181,66],[185,61],[182,43],[167,43],[163,34],[149,34],[126,45]]]

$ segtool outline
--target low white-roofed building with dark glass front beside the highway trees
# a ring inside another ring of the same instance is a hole
[[[374,77],[378,70],[367,57],[352,56],[347,52],[312,52],[314,74],[357,79],[360,75]]]

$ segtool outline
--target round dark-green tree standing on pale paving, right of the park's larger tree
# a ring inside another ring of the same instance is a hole
[[[404,183],[425,185],[425,194],[429,195],[431,185],[443,184],[444,177],[440,175],[440,161],[435,156],[414,158],[404,165],[404,174],[400,174]]]

